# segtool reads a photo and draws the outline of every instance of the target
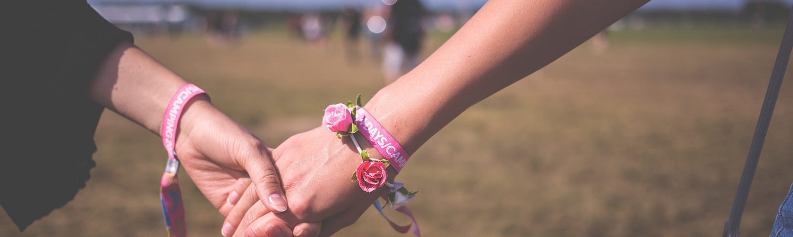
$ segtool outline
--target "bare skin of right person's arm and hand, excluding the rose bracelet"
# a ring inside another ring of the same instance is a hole
[[[646,2],[488,1],[442,47],[365,107],[404,149],[416,152],[474,103],[548,65]],[[360,162],[358,152],[323,128],[289,138],[273,156],[289,210],[270,213],[253,192],[236,186],[243,195],[224,223],[236,229],[234,236],[311,236],[315,229],[295,224],[318,221],[319,235],[328,236],[353,224],[382,191],[366,194],[349,181]],[[312,162],[301,162],[305,157]],[[389,171],[389,177],[394,175]]]

